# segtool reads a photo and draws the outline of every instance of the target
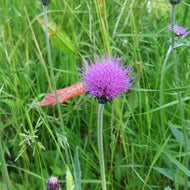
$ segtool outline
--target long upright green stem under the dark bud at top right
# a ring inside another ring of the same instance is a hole
[[[171,25],[172,25],[172,62],[174,65],[174,75],[175,75],[175,82],[176,82],[176,86],[177,88],[180,87],[180,80],[179,80],[179,73],[178,73],[178,64],[176,62],[176,51],[175,51],[175,8],[176,5],[172,4],[172,14],[171,14]],[[179,105],[179,112],[180,112],[180,118],[181,118],[181,124],[182,124],[182,134],[184,135],[184,150],[185,153],[187,153],[188,151],[188,131],[186,130],[185,127],[185,120],[184,120],[184,109],[183,109],[183,105],[182,105],[182,98],[181,98],[181,93],[178,92],[178,105]],[[181,138],[182,139],[182,138]],[[184,163],[185,163],[185,167],[188,168],[188,156],[186,156],[184,158]],[[184,184],[184,190],[188,190],[188,176],[185,175],[185,184]]]

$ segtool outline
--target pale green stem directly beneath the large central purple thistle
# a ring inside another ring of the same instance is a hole
[[[104,104],[99,104],[99,107],[98,107],[98,152],[99,152],[100,173],[101,173],[101,179],[102,179],[102,190],[106,190],[103,133],[102,133],[103,110],[104,110]]]

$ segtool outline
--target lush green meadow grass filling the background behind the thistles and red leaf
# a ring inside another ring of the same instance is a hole
[[[177,5],[175,19],[190,28],[189,7],[189,0]],[[9,190],[45,189],[55,175],[62,189],[73,183],[76,189],[99,190],[95,99],[83,94],[61,104],[63,125],[56,106],[31,104],[52,85],[40,19],[40,0],[0,2],[0,189],[7,183]],[[48,21],[61,36],[50,38],[57,89],[79,81],[77,68],[95,53],[117,54],[134,67],[132,88],[104,109],[108,189],[190,188],[184,140],[190,129],[190,35],[178,39],[183,45],[176,48],[176,87],[171,55],[163,67],[170,20],[166,0],[52,0],[48,6]]]

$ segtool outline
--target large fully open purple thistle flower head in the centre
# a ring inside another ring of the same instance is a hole
[[[95,63],[89,58],[90,64],[87,63],[87,66],[83,63],[79,74],[89,97],[95,96],[99,103],[105,104],[131,87],[134,79],[131,65],[124,66],[125,62],[120,64],[121,58],[116,55],[106,57],[103,54],[100,61],[95,55],[94,59]]]

